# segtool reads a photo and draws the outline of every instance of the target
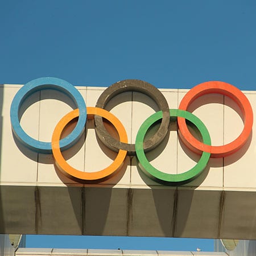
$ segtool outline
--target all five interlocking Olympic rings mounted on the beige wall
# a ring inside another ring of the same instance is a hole
[[[65,115],[57,124],[53,131],[52,142],[41,142],[31,138],[24,132],[19,122],[19,109],[24,100],[26,100],[32,93],[43,89],[55,89],[64,92],[77,106],[76,110]],[[160,109],[159,112],[151,115],[151,117],[143,122],[142,126],[139,128],[135,144],[127,143],[127,134],[122,123],[114,117],[113,114],[104,109],[106,104],[108,104],[114,96],[127,91],[136,91],[147,94],[147,96],[151,97],[152,100],[158,104]],[[233,142],[223,146],[211,146],[210,136],[203,122],[192,113],[187,112],[187,109],[193,100],[208,93],[220,93],[232,98],[243,114],[244,127],[241,134]],[[63,172],[65,176],[81,183],[97,183],[106,180],[120,169],[126,155],[137,155],[139,167],[151,179],[168,185],[184,184],[201,174],[207,166],[210,157],[224,157],[239,150],[250,137],[253,126],[253,110],[251,109],[249,100],[247,100],[246,96],[238,88],[220,81],[204,82],[195,86],[185,94],[180,102],[179,109],[169,109],[166,98],[153,85],[141,80],[123,80],[105,89],[98,98],[96,107],[88,107],[87,112],[88,117],[86,117],[85,102],[79,91],[73,87],[73,85],[61,79],[46,77],[28,82],[18,91],[18,93],[16,93],[13,102],[11,103],[10,118],[13,134],[20,143],[39,153],[52,153],[59,170]],[[61,132],[64,127],[68,122],[77,117],[78,121],[75,129],[67,137],[60,140]],[[106,131],[102,117],[108,119],[108,121],[115,127],[119,135],[119,141],[114,139],[112,135]],[[197,154],[201,154],[199,162],[190,170],[185,171],[182,174],[166,174],[159,171],[148,162],[145,155],[145,152],[158,146],[158,144],[165,138],[168,132],[170,117],[177,117],[179,135],[184,144]],[[107,147],[118,152],[114,162],[101,171],[83,172],[76,170],[69,166],[61,154],[61,151],[73,146],[73,144],[79,140],[84,131],[86,118],[94,118],[98,137]],[[185,119],[188,119],[197,127],[203,137],[203,142],[198,141],[192,136],[185,123]],[[144,142],[144,137],[148,129],[157,121],[160,121],[158,131],[156,131],[150,139]]]

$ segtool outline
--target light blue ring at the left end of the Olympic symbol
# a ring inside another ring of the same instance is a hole
[[[32,80],[18,90],[13,102],[11,102],[10,110],[11,126],[15,137],[20,143],[33,151],[43,154],[51,154],[51,142],[42,142],[31,138],[25,133],[19,122],[19,109],[24,100],[26,100],[32,93],[45,89],[53,89],[65,93],[71,100],[73,100],[76,107],[79,109],[79,119],[75,129],[67,137],[60,140],[61,150],[66,150],[69,147],[72,147],[82,135],[86,122],[86,105],[84,98],[82,98],[80,92],[72,84],[55,77],[41,77]]]

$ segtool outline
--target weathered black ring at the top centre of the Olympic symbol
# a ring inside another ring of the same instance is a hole
[[[164,137],[166,137],[168,126],[170,122],[169,115],[169,107],[166,101],[166,98],[163,94],[158,90],[154,85],[149,84],[148,82],[144,82],[142,80],[134,80],[128,79],[119,82],[115,82],[115,84],[109,86],[101,96],[98,98],[96,103],[97,108],[104,109],[106,104],[117,94],[123,92],[142,92],[147,94],[152,100],[156,102],[159,106],[159,109],[163,112],[163,118],[160,123],[158,131],[147,141],[144,142],[144,150],[150,151],[158,144],[160,144]],[[94,116],[95,129],[100,140],[113,151],[118,152],[118,150],[126,150],[128,155],[136,155],[135,144],[123,143],[114,139],[108,131],[105,129],[102,117],[99,115]]]

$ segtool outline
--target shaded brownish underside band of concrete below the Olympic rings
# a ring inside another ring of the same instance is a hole
[[[256,192],[0,186],[0,233],[255,240]]]

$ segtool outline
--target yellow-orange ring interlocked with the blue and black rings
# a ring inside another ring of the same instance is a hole
[[[88,118],[93,118],[93,115],[100,115],[101,117],[106,118],[112,125],[114,125],[115,129],[118,132],[119,138],[121,142],[127,143],[127,134],[125,131],[125,127],[123,127],[122,123],[110,112],[105,109],[100,108],[87,108]],[[114,162],[110,164],[109,167],[104,168],[101,171],[97,172],[83,172],[76,170],[71,167],[63,158],[63,155],[60,151],[59,141],[60,135],[64,129],[64,127],[72,121],[72,119],[79,117],[79,109],[75,109],[72,112],[69,112],[65,115],[60,122],[55,127],[52,135],[52,154],[55,159],[55,163],[59,170],[63,172],[63,174],[73,180],[79,182],[87,182],[87,183],[96,183],[99,181],[104,181],[112,176],[123,164],[123,160],[125,160],[127,151],[119,150],[117,157]]]

